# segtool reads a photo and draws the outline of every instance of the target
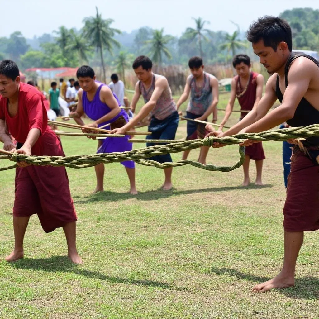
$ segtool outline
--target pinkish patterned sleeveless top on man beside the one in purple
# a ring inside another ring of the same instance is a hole
[[[144,102],[147,103],[154,92],[155,89],[155,81],[159,78],[164,78],[162,75],[153,74],[152,83],[148,90],[145,89],[144,84],[139,81],[139,89],[141,94],[143,95]],[[163,91],[161,96],[156,102],[155,107],[150,112],[151,116],[154,116],[158,120],[164,120],[167,116],[173,114],[177,110],[176,104],[172,97],[172,91],[169,86]]]

